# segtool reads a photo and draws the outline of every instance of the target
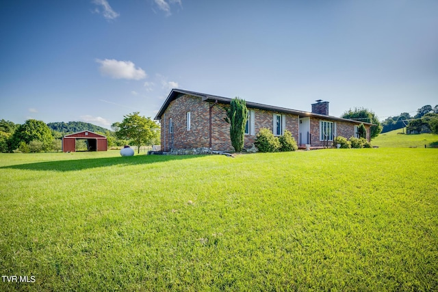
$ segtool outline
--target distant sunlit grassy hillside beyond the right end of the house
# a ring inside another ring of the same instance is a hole
[[[405,148],[424,148],[433,142],[438,142],[438,135],[433,134],[413,134],[406,135],[406,128],[379,134],[371,141],[373,146],[379,147],[405,147]]]

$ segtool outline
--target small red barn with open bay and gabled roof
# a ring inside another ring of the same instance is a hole
[[[62,137],[62,152],[75,152],[76,140],[87,140],[88,151],[106,151],[107,137],[91,131],[81,131]]]

